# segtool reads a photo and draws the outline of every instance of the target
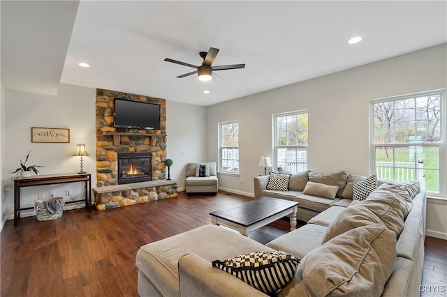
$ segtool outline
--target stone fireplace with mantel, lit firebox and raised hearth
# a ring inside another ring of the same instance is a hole
[[[160,130],[114,127],[114,98],[160,105]],[[166,181],[166,142],[166,100],[96,89],[96,208],[177,197],[177,183]]]

